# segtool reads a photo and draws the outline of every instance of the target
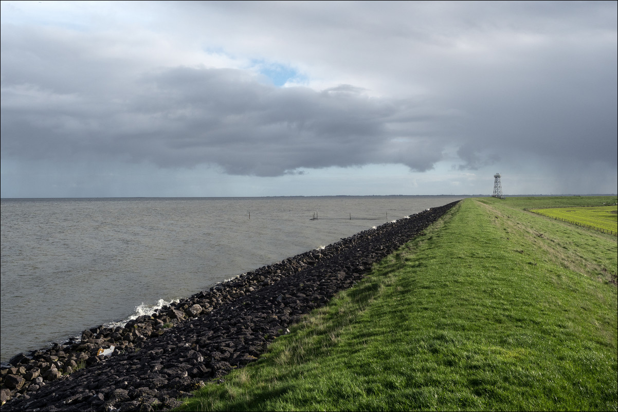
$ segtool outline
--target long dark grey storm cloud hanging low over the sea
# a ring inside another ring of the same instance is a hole
[[[276,88],[242,70],[177,67],[135,78],[126,93],[117,86],[87,94],[4,87],[7,156],[211,163],[259,176],[392,162],[426,170],[441,158],[439,142],[405,134],[426,123],[421,107],[369,98],[349,85]]]

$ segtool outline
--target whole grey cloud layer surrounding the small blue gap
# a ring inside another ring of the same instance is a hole
[[[447,153],[477,169],[533,154],[557,169],[616,170],[615,2],[151,7],[163,10],[144,20],[161,32],[2,24],[3,158],[276,176],[382,163],[425,171]],[[209,68],[206,55],[195,64],[182,54],[193,46],[336,82],[276,88]]]

